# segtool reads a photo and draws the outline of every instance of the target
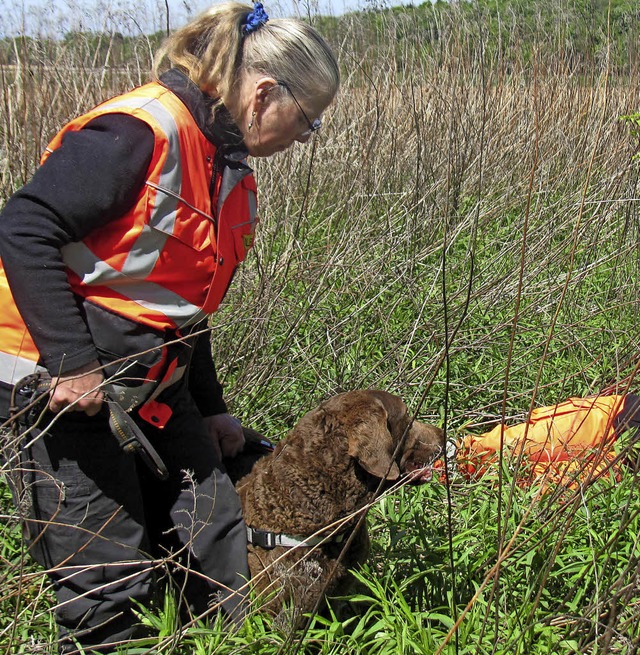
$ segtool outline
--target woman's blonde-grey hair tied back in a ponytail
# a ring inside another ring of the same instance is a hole
[[[168,68],[168,62],[226,103],[234,98],[244,74],[257,72],[286,82],[296,97],[331,102],[340,72],[318,32],[301,20],[274,18],[245,35],[242,27],[251,11],[238,2],[204,11],[165,40],[154,59],[154,76]]]

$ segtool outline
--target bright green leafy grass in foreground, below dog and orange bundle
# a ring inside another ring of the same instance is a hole
[[[371,558],[357,573],[357,591],[348,599],[352,616],[317,617],[301,642],[278,633],[259,613],[235,634],[202,625],[180,632],[167,594],[162,609],[141,611],[157,638],[123,652],[632,652],[630,644],[640,639],[635,618],[640,504],[634,476],[549,499],[531,489],[511,490],[510,482],[508,472],[501,488],[455,481],[451,506],[445,486],[437,482],[379,501],[370,515]],[[18,556],[6,544],[2,553],[9,562]],[[37,587],[34,579],[24,590],[23,607],[29,586]],[[3,599],[4,616],[15,611],[15,600]],[[46,597],[31,603],[30,631],[13,635],[12,652],[31,652],[27,644],[34,643],[38,629],[46,638],[51,628]]]

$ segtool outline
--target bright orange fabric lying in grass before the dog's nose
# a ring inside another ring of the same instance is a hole
[[[616,434],[613,421],[624,396],[570,398],[531,412],[529,421],[513,426],[497,425],[481,435],[467,435],[457,450],[458,469],[468,478],[497,471],[503,460],[517,466],[521,484],[580,482],[620,471],[612,468]]]

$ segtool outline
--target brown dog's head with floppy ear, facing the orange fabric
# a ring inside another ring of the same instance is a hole
[[[444,432],[411,421],[404,402],[386,391],[348,391],[323,403],[335,411],[347,435],[349,455],[371,475],[386,480],[431,478],[430,464],[444,448]]]

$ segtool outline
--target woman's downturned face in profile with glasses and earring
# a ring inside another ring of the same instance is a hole
[[[248,95],[250,102],[239,128],[253,157],[269,157],[296,141],[306,143],[326,109],[324,101],[317,101],[315,106],[297,101],[286,86],[272,78],[255,80]]]

